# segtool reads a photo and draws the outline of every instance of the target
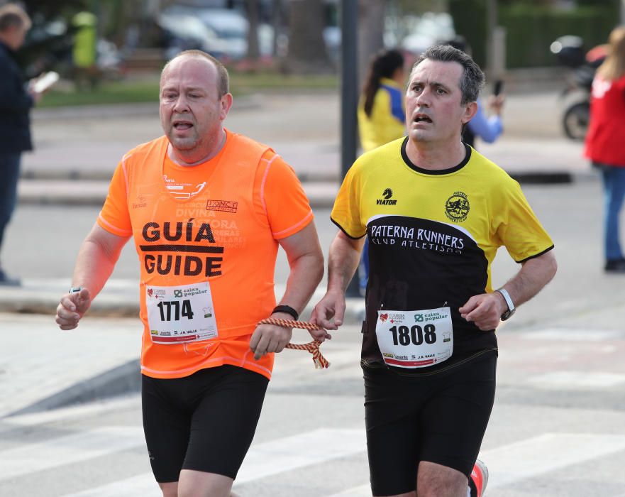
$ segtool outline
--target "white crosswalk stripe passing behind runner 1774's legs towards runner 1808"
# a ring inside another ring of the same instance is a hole
[[[284,471],[327,462],[364,452],[363,430],[320,428],[311,432],[253,444],[243,461],[236,485],[272,476]],[[72,493],[65,497],[136,497],[160,496],[152,474],[140,474],[99,488]]]

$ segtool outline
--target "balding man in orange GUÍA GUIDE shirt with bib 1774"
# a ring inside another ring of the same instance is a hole
[[[160,81],[165,136],[127,153],[57,307],[74,329],[132,237],[140,259],[143,427],[164,497],[228,496],[253,439],[275,352],[323,274],[292,168],[223,127],[228,72],[198,50]],[[291,272],[275,307],[278,246]]]

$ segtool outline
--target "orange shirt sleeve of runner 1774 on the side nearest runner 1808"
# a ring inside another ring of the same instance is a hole
[[[256,197],[260,199],[275,239],[296,234],[313,220],[302,183],[280,155],[267,151],[262,156],[255,183],[255,190],[259,193]]]

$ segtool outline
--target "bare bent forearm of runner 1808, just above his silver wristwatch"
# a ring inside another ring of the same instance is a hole
[[[530,300],[551,281],[558,269],[553,250],[526,261],[523,267],[502,288],[505,288],[514,305]]]

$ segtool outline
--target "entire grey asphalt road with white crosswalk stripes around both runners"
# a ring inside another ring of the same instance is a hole
[[[499,329],[497,401],[481,455],[492,474],[487,495],[624,497],[625,277],[601,271],[599,182],[524,191],[555,240],[560,270]],[[67,277],[96,212],[19,207],[5,260],[25,278]],[[326,209],[316,216],[327,251],[336,229]],[[135,266],[128,246],[114,277],[135,278]],[[280,266],[279,282],[283,259]],[[500,252],[494,284],[515,269]],[[16,315],[15,323],[28,319]],[[314,371],[307,354],[279,356],[240,495],[369,495],[359,342],[357,327],[335,334],[324,346],[328,371]],[[0,433],[2,496],[158,495],[136,395],[4,418]]]

